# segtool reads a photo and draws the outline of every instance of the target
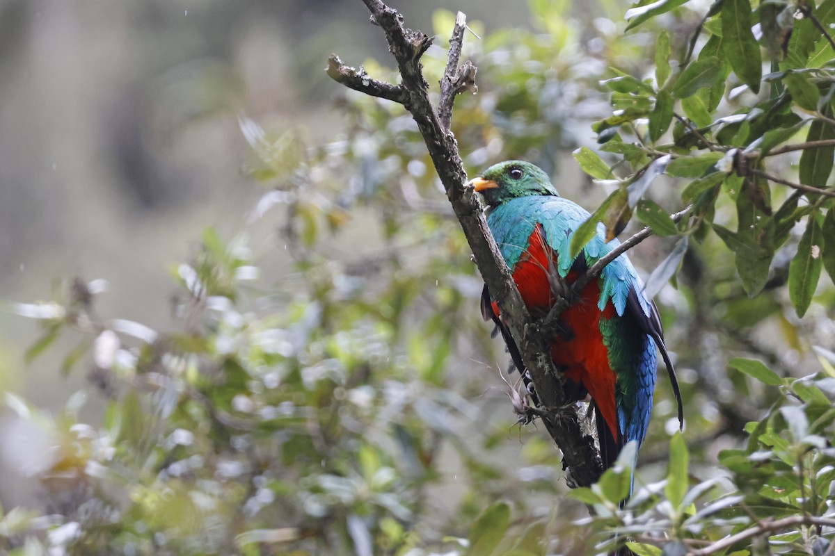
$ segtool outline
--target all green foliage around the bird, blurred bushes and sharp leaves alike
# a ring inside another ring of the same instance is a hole
[[[100,280],[16,305],[43,325],[28,358],[73,338],[60,370],[86,368],[109,401],[91,425],[81,393],[55,415],[5,395],[49,449],[43,508],[4,508],[0,550],[832,553],[835,2],[681,4],[623,22],[615,3],[593,16],[531,0],[532,32],[472,23],[479,92],[453,115],[473,172],[526,158],[556,173],[576,149],[595,182],[560,190],[603,201],[613,235],[635,214],[671,253],[647,287],[687,428],[673,434],[661,389],[625,508],[625,465],[567,494],[546,435],[520,430],[519,446],[511,404],[479,399],[516,379],[475,363],[506,356],[422,139],[401,107],[340,91],[347,129],[321,146],[240,120],[270,188],[251,220],[275,222],[267,243],[291,255],[278,282],[263,238],[207,229],[173,268],[173,330],[101,316]],[[453,14],[433,21],[443,43]]]

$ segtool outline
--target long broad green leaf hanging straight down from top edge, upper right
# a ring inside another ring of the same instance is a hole
[[[751,31],[751,3],[748,0],[725,0],[721,22],[726,60],[742,83],[754,93],[759,93],[762,56]]]

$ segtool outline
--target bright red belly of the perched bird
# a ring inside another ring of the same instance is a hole
[[[529,311],[544,314],[554,305],[554,294],[548,276],[557,276],[557,258],[539,233],[539,226],[529,238],[529,248],[514,267],[514,282]],[[569,272],[566,280],[574,282],[577,274]],[[609,425],[612,437],[620,438],[615,411],[615,382],[617,375],[609,363],[609,352],[600,333],[600,318],[612,318],[615,308],[606,303],[603,311],[597,308],[600,286],[597,280],[588,283],[574,303],[560,316],[571,333],[558,335],[551,343],[551,358],[557,368],[574,383],[581,384],[595,400],[600,413]],[[493,302],[498,315],[498,306]],[[573,334],[572,334],[573,333]]]

